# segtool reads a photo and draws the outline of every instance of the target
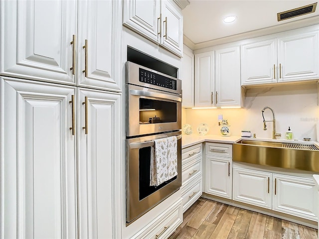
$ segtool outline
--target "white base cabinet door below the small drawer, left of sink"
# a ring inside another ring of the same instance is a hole
[[[206,155],[206,193],[231,199],[231,159]]]

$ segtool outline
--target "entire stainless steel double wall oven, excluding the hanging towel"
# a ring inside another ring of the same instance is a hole
[[[181,81],[126,62],[127,225],[181,186]],[[150,186],[154,139],[177,137],[177,176]]]

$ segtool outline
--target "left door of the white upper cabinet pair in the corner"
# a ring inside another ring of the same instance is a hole
[[[215,52],[195,54],[195,107],[215,106]]]

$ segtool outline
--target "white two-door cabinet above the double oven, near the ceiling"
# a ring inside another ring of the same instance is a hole
[[[123,1],[123,24],[182,56],[183,16],[170,0]]]

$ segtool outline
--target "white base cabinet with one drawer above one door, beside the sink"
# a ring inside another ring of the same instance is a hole
[[[205,193],[232,198],[232,145],[205,144]]]

